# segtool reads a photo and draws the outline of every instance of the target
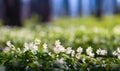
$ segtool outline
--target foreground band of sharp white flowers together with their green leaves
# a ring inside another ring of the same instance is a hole
[[[90,67],[89,64],[93,64],[95,68],[97,68],[99,65],[100,67],[105,68],[107,63],[109,63],[108,61],[113,60],[113,64],[116,64],[120,59],[119,47],[112,53],[113,56],[117,56],[117,58],[112,57],[109,60],[109,58],[107,59],[104,57],[108,55],[108,51],[105,49],[99,48],[96,51],[93,51],[94,48],[90,46],[86,49],[86,51],[84,51],[82,47],[78,47],[77,49],[74,49],[73,47],[64,47],[60,40],[55,41],[55,45],[51,48],[48,47],[46,43],[42,44],[39,39],[36,39],[31,43],[24,43],[23,49],[16,48],[11,41],[7,41],[6,45],[7,47],[3,49],[3,54],[9,53],[12,55],[13,60],[18,61],[17,65],[23,65],[21,63],[27,63],[24,67],[27,70],[29,70],[31,66],[37,66],[37,68],[42,70],[43,67],[50,68],[53,66],[52,68],[55,68],[56,65],[58,70],[69,70],[71,67],[73,67],[73,70],[77,70],[80,67],[87,69],[87,66]],[[115,62],[115,60],[118,61]],[[5,62],[2,63],[4,65]],[[12,64],[14,64],[14,61]]]

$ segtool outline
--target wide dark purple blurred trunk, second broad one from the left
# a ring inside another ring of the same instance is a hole
[[[50,0],[32,0],[32,13],[39,15],[41,22],[49,22],[51,20]]]

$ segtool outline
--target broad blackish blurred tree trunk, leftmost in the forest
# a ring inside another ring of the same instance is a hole
[[[20,0],[4,0],[3,23],[8,26],[22,26]]]

